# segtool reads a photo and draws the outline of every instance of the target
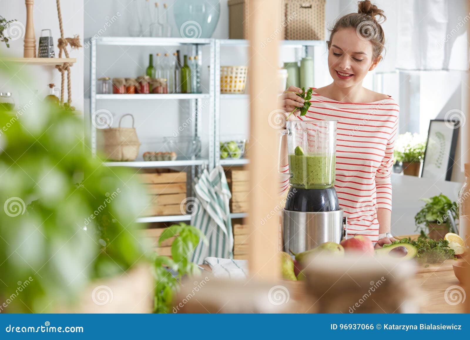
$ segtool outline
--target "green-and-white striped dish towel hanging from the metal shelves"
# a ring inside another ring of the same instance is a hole
[[[208,256],[233,258],[234,236],[228,202],[232,197],[222,166],[203,173],[194,185],[196,212],[191,216],[191,225],[200,229],[209,245],[199,242],[192,262],[201,264]]]

